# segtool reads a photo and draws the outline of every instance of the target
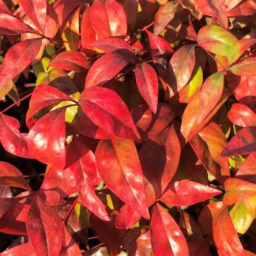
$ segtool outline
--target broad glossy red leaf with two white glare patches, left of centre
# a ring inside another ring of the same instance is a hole
[[[57,169],[66,164],[65,111],[65,107],[58,108],[43,115],[28,133],[28,149],[32,156]]]

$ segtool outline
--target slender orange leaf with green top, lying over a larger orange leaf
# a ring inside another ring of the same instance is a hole
[[[198,120],[202,122],[213,108],[216,107],[223,93],[224,88],[224,73],[213,73],[208,77],[201,88]]]

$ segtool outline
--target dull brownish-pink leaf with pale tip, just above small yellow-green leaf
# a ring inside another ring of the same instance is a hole
[[[184,45],[172,55],[170,63],[177,83],[176,91],[179,92],[190,81],[195,61],[194,44]]]

